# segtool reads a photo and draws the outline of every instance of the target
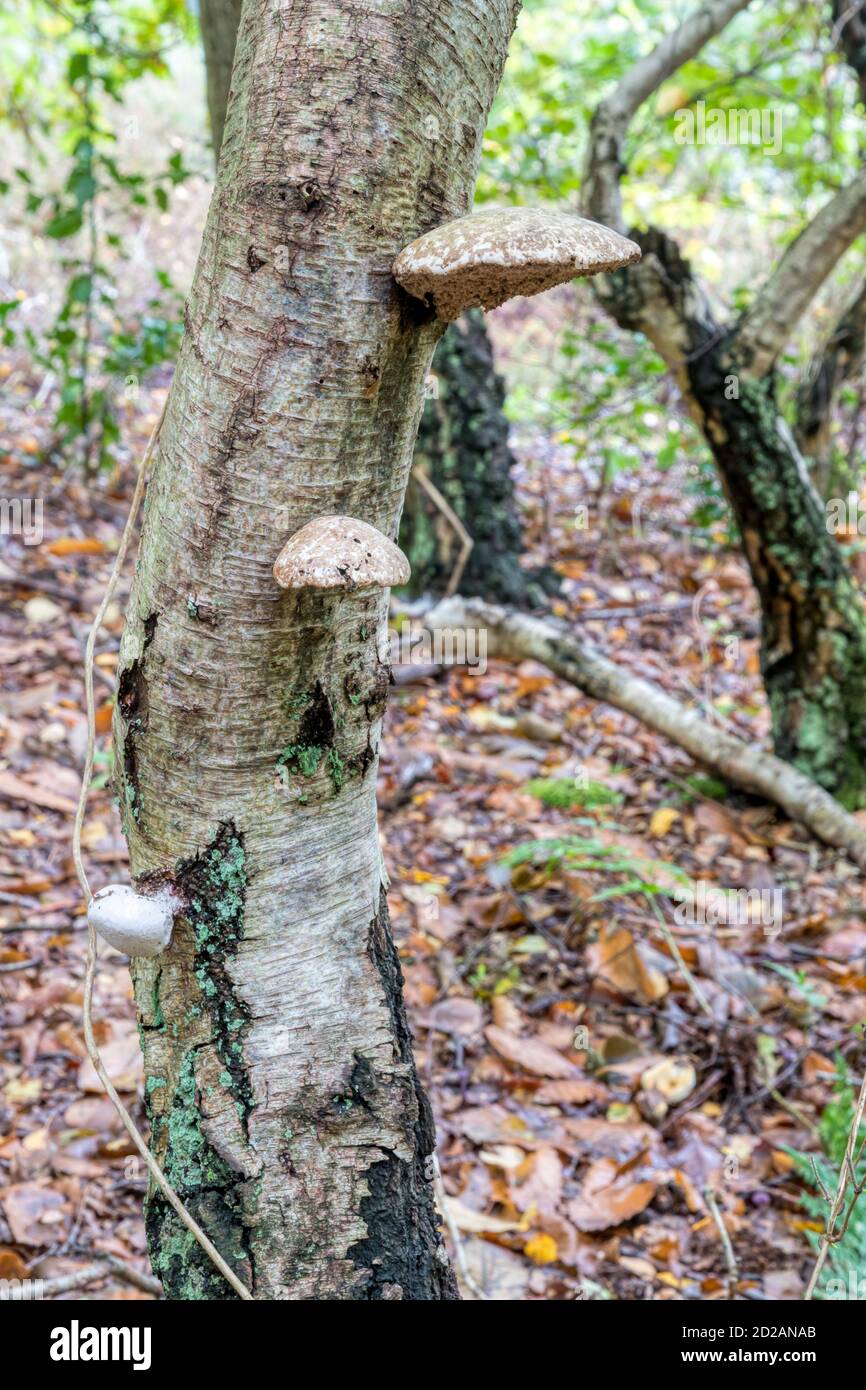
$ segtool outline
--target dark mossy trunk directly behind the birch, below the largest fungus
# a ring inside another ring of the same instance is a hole
[[[417,481],[423,468],[473,542],[460,577],[464,592],[516,605],[538,600],[539,580],[549,587],[550,575],[534,577],[520,566],[516,460],[481,310],[470,310],[448,329],[434,356],[431,382],[400,523],[413,591],[442,594],[463,548],[448,514]]]

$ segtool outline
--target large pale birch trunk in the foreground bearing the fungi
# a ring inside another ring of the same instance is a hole
[[[186,899],[135,967],[153,1148],[257,1298],[455,1297],[377,833],[386,592],[272,566],[322,514],[396,534],[442,325],[391,263],[470,204],[516,11],[243,6],[115,742],[133,877]],[[146,1226],[170,1297],[229,1297],[153,1191]]]

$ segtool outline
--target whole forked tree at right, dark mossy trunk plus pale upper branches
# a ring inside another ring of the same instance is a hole
[[[621,149],[638,106],[748,0],[706,0],[602,101],[585,178],[589,217],[623,228]],[[866,228],[866,174],[788,246],[749,310],[719,324],[673,239],[628,235],[639,264],[599,277],[616,321],[646,334],[714,456],[762,607],[776,751],[845,805],[866,799],[866,619],[777,403],[774,363],[840,256]]]

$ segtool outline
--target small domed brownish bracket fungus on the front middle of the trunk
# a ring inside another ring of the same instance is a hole
[[[386,589],[410,575],[403,552],[356,517],[317,517],[291,535],[277,557],[282,589]]]

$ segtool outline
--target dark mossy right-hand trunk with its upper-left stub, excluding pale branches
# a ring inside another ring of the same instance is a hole
[[[641,267],[607,278],[617,322],[649,334],[716,460],[760,599],[774,748],[847,806],[866,801],[866,614],[742,325],[720,329],[674,242],[634,232]]]

